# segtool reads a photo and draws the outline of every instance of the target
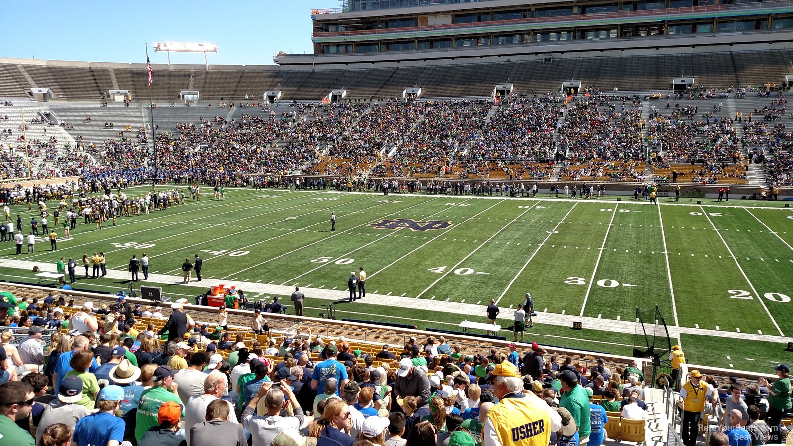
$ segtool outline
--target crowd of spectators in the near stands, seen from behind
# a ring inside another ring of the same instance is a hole
[[[308,326],[251,340],[244,329],[193,320],[178,303],[167,320],[158,309],[166,321],[157,329],[150,310],[121,298],[73,309],[52,293],[43,302],[3,296],[9,315],[27,316],[17,329],[27,337],[0,338],[2,444],[291,446],[313,437],[318,446],[496,446],[518,444],[516,429],[528,423],[532,444],[598,446],[607,412],[649,417],[636,361],[557,358],[538,344],[465,347],[443,336],[363,352]],[[713,377],[692,370],[690,379],[704,380],[706,413],[720,403],[729,415],[737,409],[719,430],[754,425],[751,444],[764,444],[780,440],[777,416],[791,403],[789,368],[775,371],[774,381],[731,380],[721,399]],[[680,398],[690,404],[689,386]]]

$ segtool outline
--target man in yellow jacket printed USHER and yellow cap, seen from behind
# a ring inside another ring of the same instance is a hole
[[[547,446],[550,433],[561,428],[559,414],[536,395],[523,393],[523,379],[515,364],[500,363],[491,375],[499,402],[485,417],[485,446]]]

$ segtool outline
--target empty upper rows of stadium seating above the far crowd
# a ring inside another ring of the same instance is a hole
[[[170,71],[157,67],[151,94],[158,101],[173,101],[179,90],[200,90],[201,97],[216,101],[242,100],[245,94],[262,98],[265,90],[281,90],[283,99],[318,100],[330,90],[345,88],[349,98],[397,98],[405,87],[419,86],[427,98],[485,96],[493,85],[508,81],[520,91],[557,90],[561,81],[581,79],[588,85],[611,90],[666,89],[670,79],[681,73],[695,76],[699,85],[738,87],[780,81],[789,71],[789,50],[766,52],[697,52],[685,55],[584,57],[551,62],[500,61],[427,65],[426,67],[377,67],[351,70],[297,70],[278,67],[210,66]],[[146,100],[147,74],[144,65],[99,63],[25,63],[18,60],[0,63],[0,91],[21,97],[27,85],[19,67],[24,67],[35,87],[52,89],[56,98],[102,98],[108,90],[129,90],[137,100]],[[110,71],[113,71],[111,75]],[[116,82],[113,82],[116,79]]]

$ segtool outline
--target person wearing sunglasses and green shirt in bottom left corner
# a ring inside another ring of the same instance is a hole
[[[0,445],[34,446],[36,440],[14,422],[30,414],[35,398],[33,386],[21,381],[0,384]]]

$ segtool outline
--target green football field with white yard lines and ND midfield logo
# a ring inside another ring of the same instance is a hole
[[[44,235],[33,254],[23,247],[16,256],[6,242],[0,273],[30,282],[31,264],[54,271],[60,256],[79,261],[103,251],[115,271],[75,287],[119,290],[132,254],[146,252],[144,284],[163,286],[166,295],[191,298],[206,286],[239,283],[249,297],[266,298],[297,285],[307,296],[306,315],[316,316],[322,304],[348,295],[350,272],[364,267],[367,298],[339,306],[338,317],[457,329],[463,319],[484,321],[492,298],[507,326],[530,292],[538,317],[527,339],[541,343],[630,354],[637,307],[652,323],[647,317],[658,306],[672,343],[693,363],[768,371],[772,360],[793,355],[782,344],[793,333],[793,211],[783,202],[659,198],[653,206],[632,196],[231,188],[226,195],[220,201],[210,191],[201,202],[121,217],[101,230],[80,218],[71,239],[58,231],[55,252]],[[15,206],[14,221],[17,213],[29,232],[33,213]],[[182,286],[181,265],[195,254],[205,280]],[[569,321],[583,321],[585,330],[570,330]]]

